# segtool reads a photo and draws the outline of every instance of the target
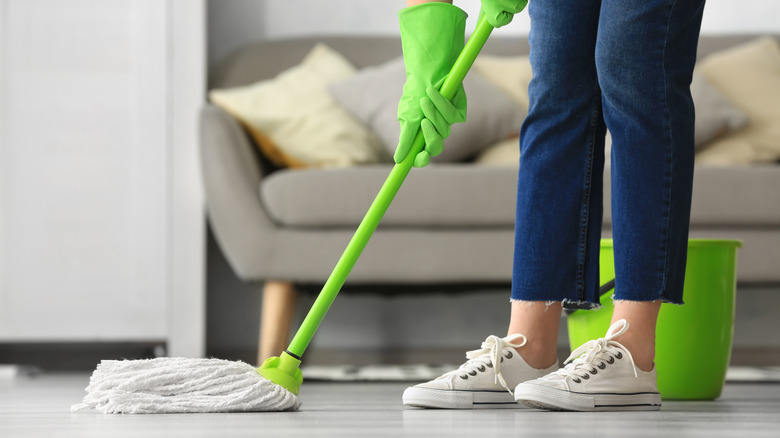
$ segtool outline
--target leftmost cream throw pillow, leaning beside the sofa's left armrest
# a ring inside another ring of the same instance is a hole
[[[343,56],[318,44],[299,65],[274,79],[212,90],[209,99],[235,117],[278,166],[339,167],[386,161],[376,135],[328,92],[329,84],[354,73]]]

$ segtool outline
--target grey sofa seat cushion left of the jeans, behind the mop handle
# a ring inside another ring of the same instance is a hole
[[[271,218],[291,227],[355,227],[389,166],[273,173],[260,185]],[[413,169],[380,226],[513,227],[517,170],[466,164]]]

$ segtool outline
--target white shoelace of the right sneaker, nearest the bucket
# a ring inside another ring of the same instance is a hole
[[[580,383],[582,380],[590,379],[591,375],[595,375],[607,365],[615,363],[615,360],[622,359],[623,354],[631,361],[634,377],[638,377],[631,352],[623,344],[614,340],[626,331],[628,331],[628,321],[625,319],[616,321],[607,330],[605,337],[588,341],[572,351],[564,362],[565,366],[550,374],[550,377],[559,376],[563,380],[569,377],[575,383]]]

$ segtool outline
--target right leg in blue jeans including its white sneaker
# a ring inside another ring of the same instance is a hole
[[[563,410],[657,410],[661,302],[682,304],[693,175],[690,81],[703,0],[602,0],[596,68],[612,133],[615,312],[604,338],[515,389]]]

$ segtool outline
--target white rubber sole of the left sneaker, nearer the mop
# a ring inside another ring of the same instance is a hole
[[[413,386],[406,388],[404,406],[437,409],[523,409],[508,391],[457,391]]]

